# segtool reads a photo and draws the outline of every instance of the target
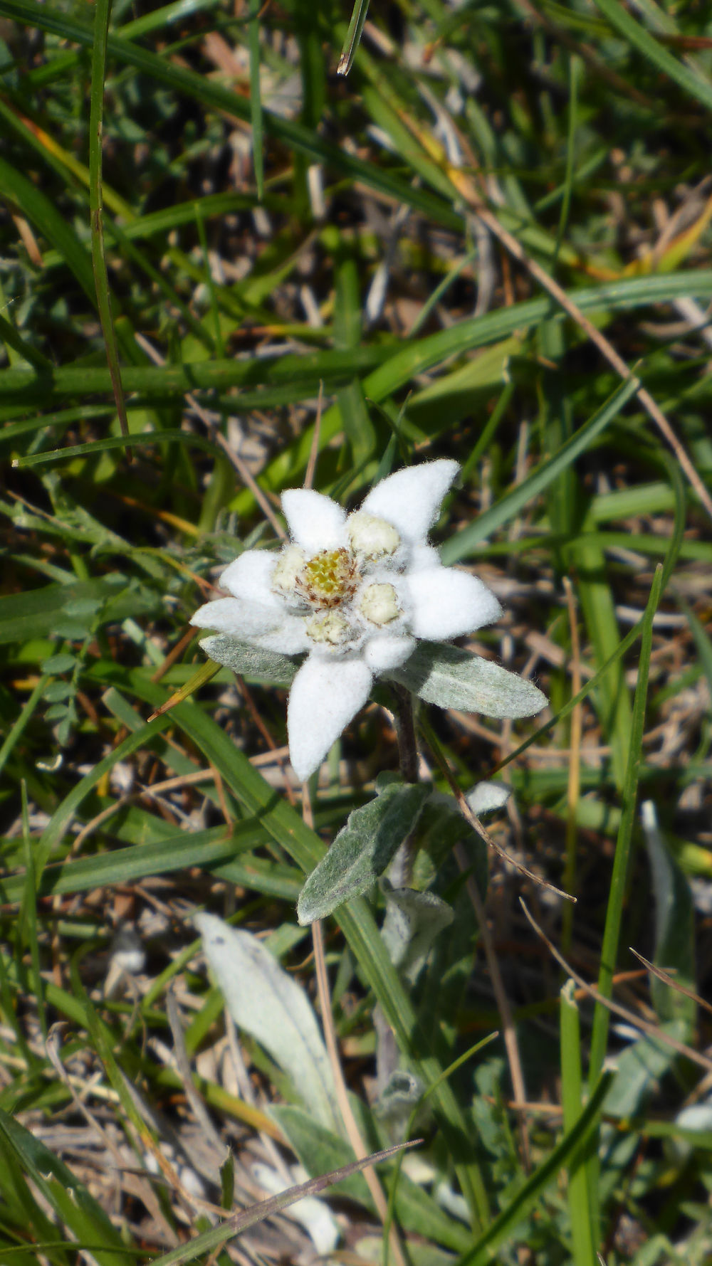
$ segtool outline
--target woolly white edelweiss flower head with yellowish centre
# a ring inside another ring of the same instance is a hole
[[[495,620],[481,580],[443,567],[428,546],[457,462],[390,475],[346,514],[309,489],[283,492],[290,543],[247,549],[220,576],[229,598],[207,603],[199,628],[302,655],[288,708],[289,752],[308,779],[364,706],[374,676],[399,668],[418,638],[450,639]]]

